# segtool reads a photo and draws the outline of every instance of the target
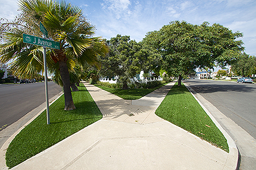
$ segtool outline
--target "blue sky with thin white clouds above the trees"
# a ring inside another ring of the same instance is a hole
[[[141,41],[149,31],[159,30],[174,20],[192,24],[218,23],[243,32],[245,52],[256,56],[255,0],[67,0],[79,6],[96,26],[96,35],[110,39],[117,34]],[[16,0],[0,0],[0,18],[13,19],[18,14]]]

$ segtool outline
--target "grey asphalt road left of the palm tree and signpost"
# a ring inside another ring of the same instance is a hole
[[[48,82],[49,99],[62,88]],[[0,128],[6,128],[46,101],[44,83],[0,84]]]

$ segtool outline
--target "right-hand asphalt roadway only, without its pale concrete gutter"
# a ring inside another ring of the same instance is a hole
[[[212,80],[185,83],[256,139],[256,84]]]

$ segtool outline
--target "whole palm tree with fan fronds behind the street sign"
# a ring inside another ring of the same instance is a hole
[[[82,15],[80,8],[64,1],[19,0],[19,24],[4,33],[0,62],[13,61],[15,75],[30,77],[43,70],[43,54],[39,46],[24,44],[22,33],[40,36],[39,23],[48,30],[48,36],[60,42],[60,49],[47,49],[47,64],[51,73],[59,70],[63,82],[65,110],[75,109],[71,95],[69,71],[75,63],[83,67],[100,67],[98,55],[105,55],[105,42],[92,37],[94,27]]]

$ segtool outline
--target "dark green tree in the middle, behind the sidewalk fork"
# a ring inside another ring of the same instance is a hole
[[[117,35],[106,41],[109,53],[101,57],[102,69],[100,74],[112,78],[118,76],[117,81],[126,90],[128,83],[142,70],[144,73],[155,70],[159,73],[159,57],[153,53],[150,46],[143,42],[130,40],[130,36]]]

